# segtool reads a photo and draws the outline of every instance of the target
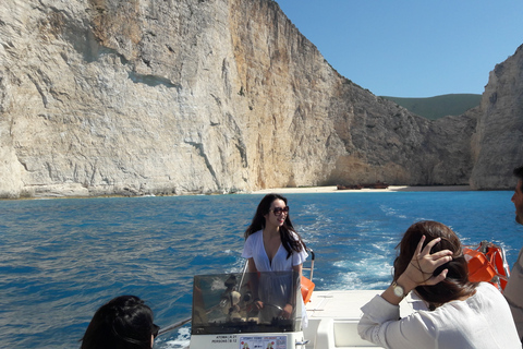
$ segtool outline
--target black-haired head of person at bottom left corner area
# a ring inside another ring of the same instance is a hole
[[[120,296],[96,311],[81,349],[150,349],[159,328],[143,300]]]

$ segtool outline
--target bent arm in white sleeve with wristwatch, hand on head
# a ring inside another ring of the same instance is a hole
[[[381,296],[376,296],[370,302],[362,308],[363,316],[357,325],[357,332],[363,339],[382,347],[401,348],[406,346],[413,348],[412,344],[429,346],[434,341],[434,332],[427,332],[421,316],[413,314],[400,320],[399,303],[410,291],[421,285],[436,285],[447,277],[448,269],[439,275],[433,276],[434,270],[452,260],[452,252],[442,250],[430,254],[430,249],[440,241],[434,239],[422,250],[425,237],[412,256],[411,263],[403,272],[396,284],[404,290],[402,297],[394,293],[393,286],[389,286]],[[392,346],[391,344],[396,344]],[[434,344],[434,342],[433,342]],[[421,348],[421,347],[419,347]]]

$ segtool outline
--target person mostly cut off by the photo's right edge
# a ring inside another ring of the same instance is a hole
[[[515,221],[523,225],[523,166],[515,168],[513,173],[518,178],[514,195],[512,195],[512,203],[515,206]],[[523,342],[523,249],[520,250],[518,260],[512,266],[503,296],[509,302],[518,334]]]

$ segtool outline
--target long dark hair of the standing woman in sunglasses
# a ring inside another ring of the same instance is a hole
[[[287,206],[287,197],[280,194],[267,194],[258,204],[258,208],[256,209],[256,214],[253,217],[253,221],[251,226],[247,227],[245,230],[245,240],[248,236],[255,233],[258,230],[263,230],[265,228],[265,215],[270,213],[270,205],[275,200],[282,200]],[[297,240],[291,234],[291,231],[297,236]],[[306,249],[305,243],[302,240],[302,237],[297,233],[297,231],[292,226],[290,213],[287,214],[285,221],[283,226],[280,227],[280,238],[281,244],[287,251],[287,257],[289,258],[292,255],[292,251],[301,252]]]

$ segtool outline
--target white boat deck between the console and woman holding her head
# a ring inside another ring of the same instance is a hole
[[[363,340],[357,334],[362,316],[360,308],[380,294],[379,290],[314,291],[305,305],[308,326],[304,337],[309,342],[306,349],[380,348]],[[408,296],[400,303],[400,314],[405,316],[423,306],[419,300]]]

